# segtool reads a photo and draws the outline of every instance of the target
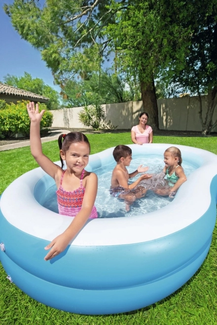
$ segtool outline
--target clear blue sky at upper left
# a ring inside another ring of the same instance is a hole
[[[43,79],[44,83],[60,92],[60,87],[53,84],[51,70],[41,60],[40,52],[21,38],[13,28],[10,18],[3,10],[3,4],[13,0],[0,0],[0,81],[6,74],[21,77],[28,72],[33,78]]]

